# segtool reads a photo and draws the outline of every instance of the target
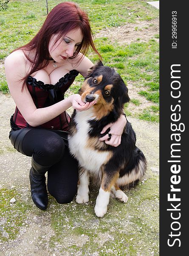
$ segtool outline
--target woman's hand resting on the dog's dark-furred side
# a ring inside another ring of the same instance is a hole
[[[127,119],[124,115],[121,115],[115,123],[110,123],[106,125],[101,131],[101,134],[103,134],[108,128],[110,128],[108,134],[111,134],[111,137],[108,134],[106,134],[99,140],[104,141],[108,145],[117,147],[118,145],[121,144],[121,135],[123,133],[123,129],[126,123]]]

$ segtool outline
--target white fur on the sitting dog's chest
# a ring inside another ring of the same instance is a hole
[[[93,118],[93,108],[76,113],[77,132],[72,137],[69,137],[69,148],[79,161],[80,166],[97,174],[102,164],[107,162],[110,152],[97,151],[88,147],[88,132],[90,131],[88,120]]]

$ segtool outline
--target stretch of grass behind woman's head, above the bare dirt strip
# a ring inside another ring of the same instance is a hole
[[[48,0],[49,11],[61,2],[62,0]],[[150,20],[158,17],[158,10],[152,9],[144,1],[75,0],[75,2],[87,11],[94,34],[106,27],[121,26],[125,23],[135,23],[136,20]],[[46,17],[45,1],[12,0],[8,6],[6,11],[0,12],[0,19],[4,20],[1,27],[1,43],[5,44],[5,52],[2,54],[0,51],[1,58],[5,58],[16,47],[27,43],[37,33]],[[132,15],[128,15],[129,13]],[[10,44],[11,42],[14,44]]]

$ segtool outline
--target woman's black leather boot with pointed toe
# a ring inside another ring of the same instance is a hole
[[[45,210],[48,205],[45,173],[50,168],[50,166],[41,166],[39,163],[36,163],[33,156],[31,157],[31,166],[32,167],[29,174],[31,198],[39,209]]]

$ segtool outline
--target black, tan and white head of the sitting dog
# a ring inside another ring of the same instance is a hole
[[[104,66],[101,61],[90,68],[79,93],[83,102],[95,100],[95,108],[108,112],[115,108],[117,112],[122,111],[124,103],[130,100],[121,76],[113,68]]]

